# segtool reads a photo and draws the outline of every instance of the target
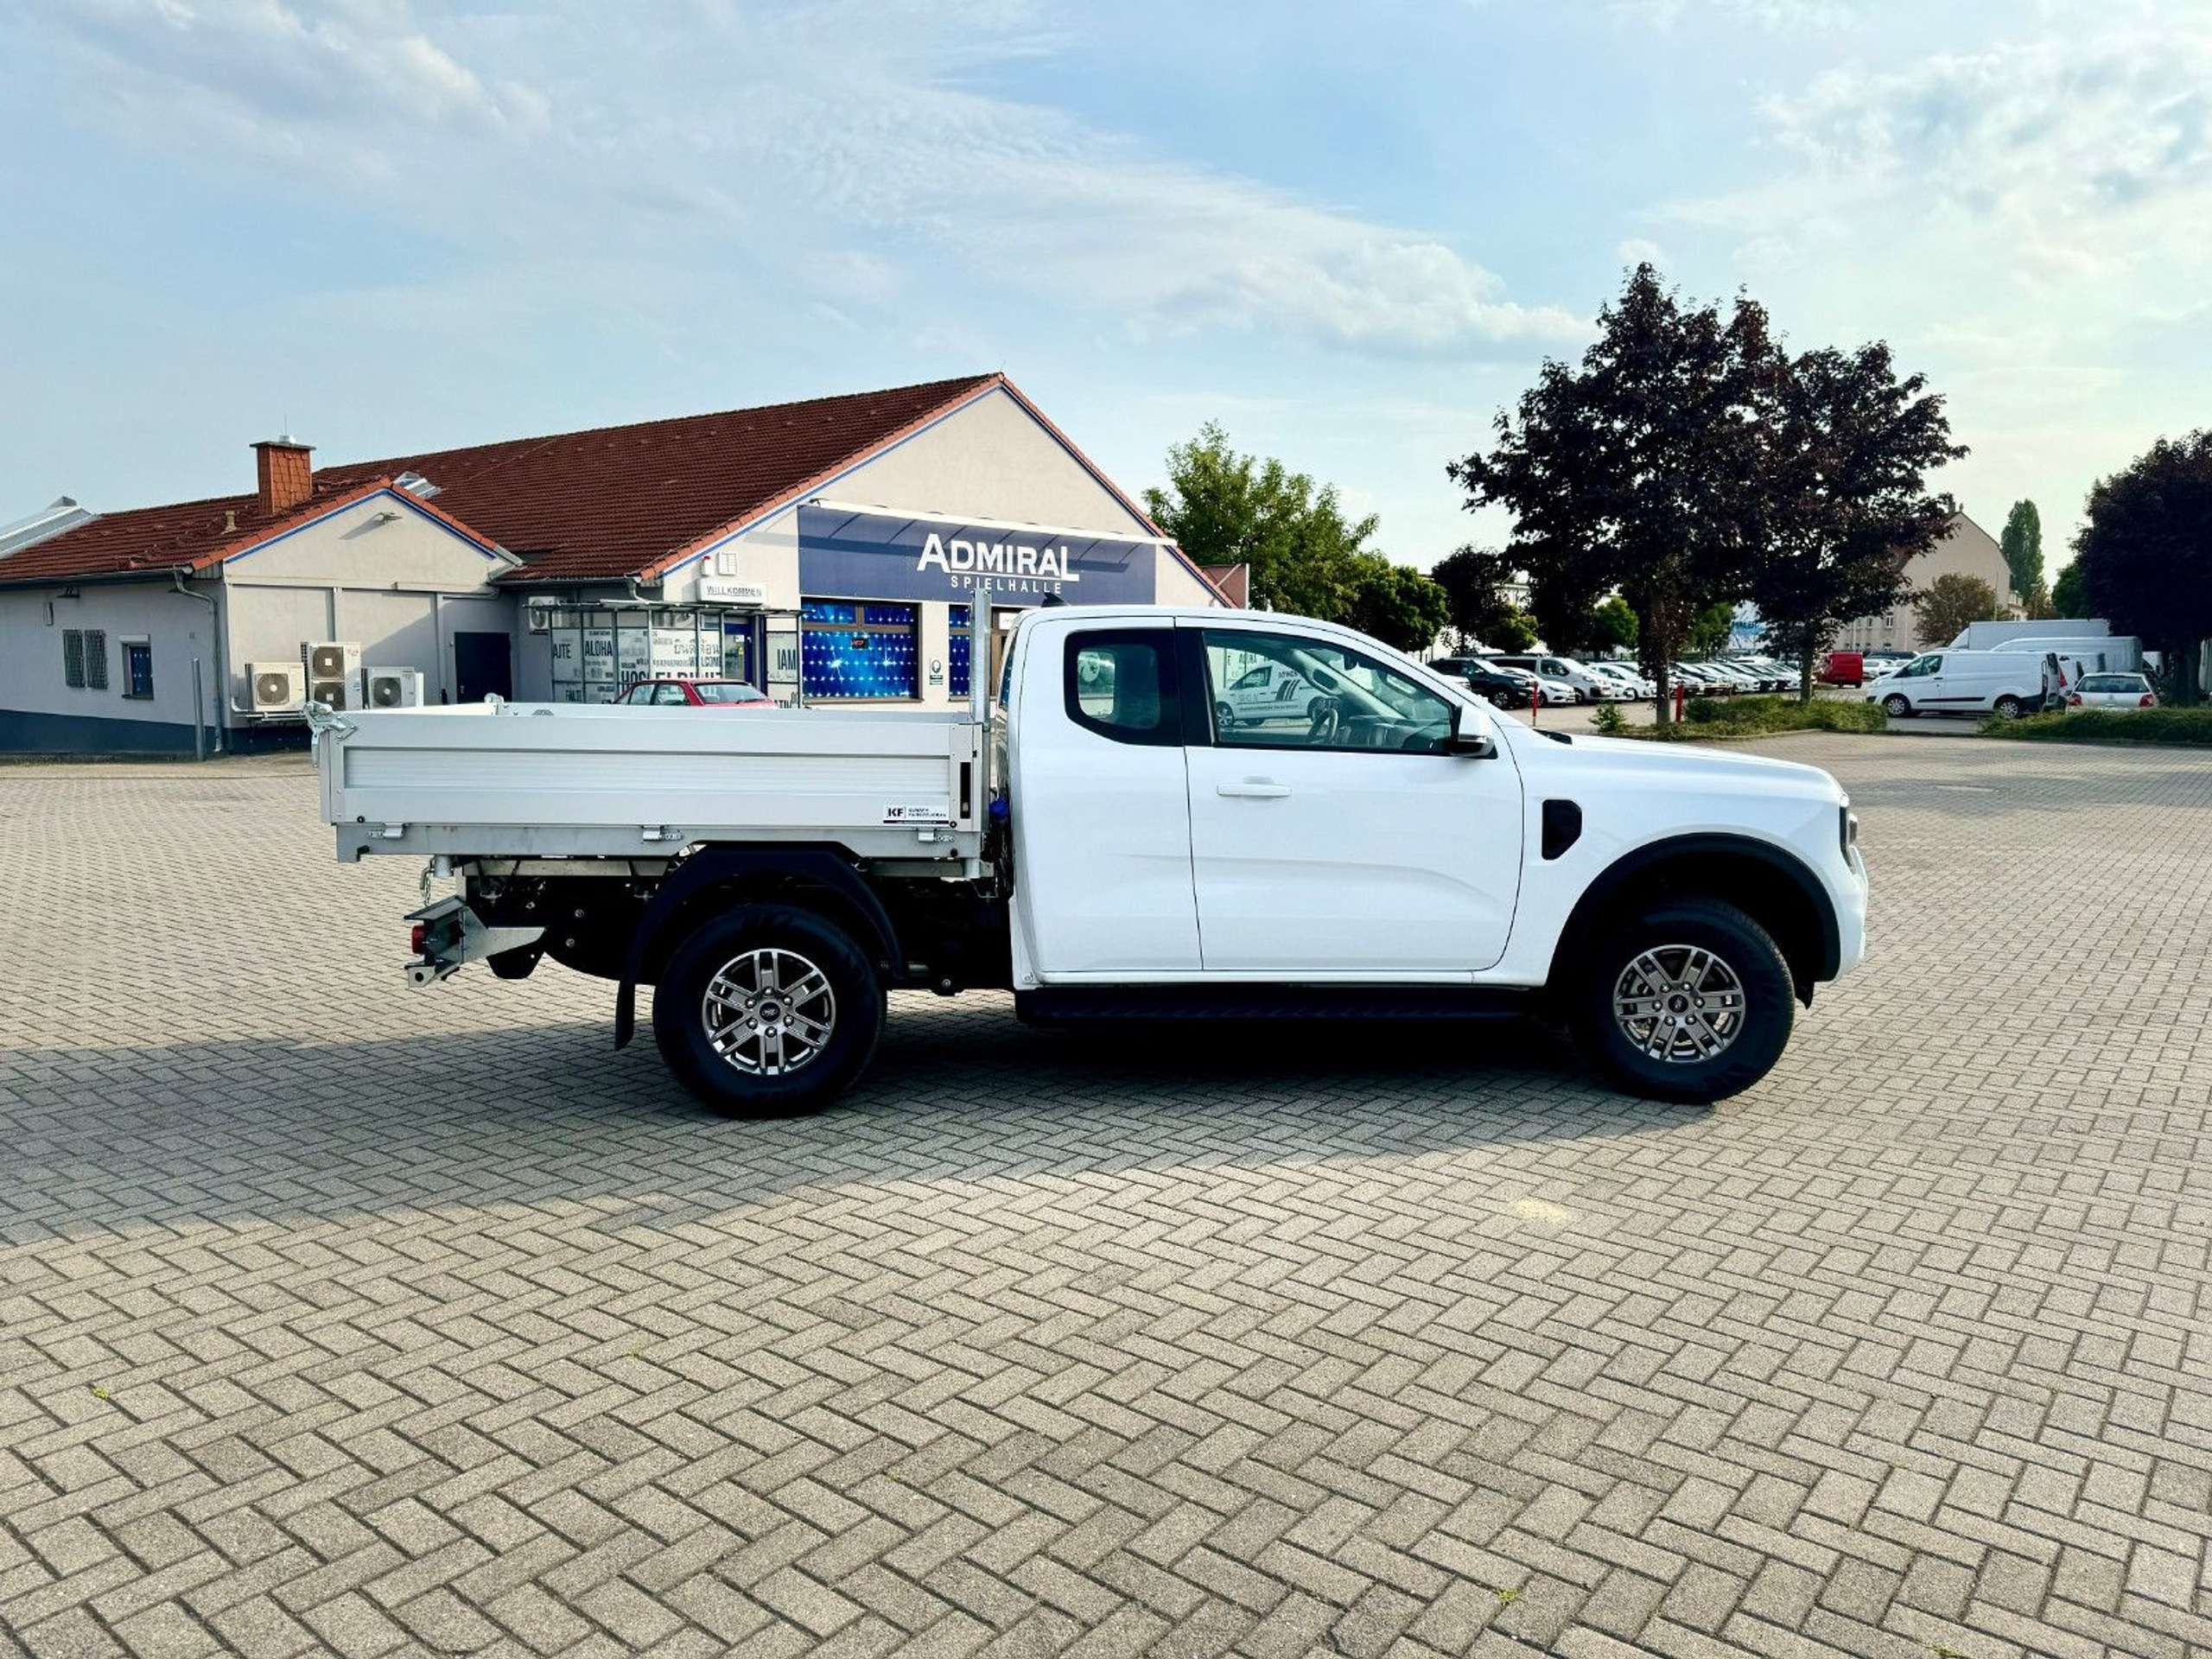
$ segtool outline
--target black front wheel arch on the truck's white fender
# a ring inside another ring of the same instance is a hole
[[[1584,889],[1553,947],[1551,982],[1566,982],[1575,956],[1619,911],[1690,894],[1721,898],[1767,929],[1807,1006],[1814,984],[1836,978],[1843,964],[1836,907],[1796,854],[1754,836],[1690,834],[1621,854]]]

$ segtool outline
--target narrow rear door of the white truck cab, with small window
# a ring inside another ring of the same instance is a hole
[[[1190,796],[1175,628],[1046,628],[1022,659],[1013,834],[1040,978],[1190,973]]]

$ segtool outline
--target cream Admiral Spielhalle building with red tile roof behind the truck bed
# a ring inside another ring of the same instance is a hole
[[[942,706],[980,591],[1221,602],[1004,374],[341,465],[272,438],[250,491],[0,526],[0,750],[190,750],[195,712],[250,745],[305,697],[646,675]]]

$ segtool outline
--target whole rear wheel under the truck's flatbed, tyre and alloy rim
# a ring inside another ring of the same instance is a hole
[[[730,1117],[821,1110],[867,1066],[883,1018],[874,962],[843,927],[794,905],[703,922],[653,991],[668,1071]]]

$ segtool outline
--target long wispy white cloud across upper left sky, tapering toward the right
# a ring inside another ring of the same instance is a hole
[[[1438,234],[978,91],[1066,51],[1022,0],[573,0],[529,22],[414,0],[93,0],[49,27],[139,142],[361,190],[500,257],[737,259],[841,314],[891,301],[909,265],[1139,334],[1385,354],[1586,332]]]

